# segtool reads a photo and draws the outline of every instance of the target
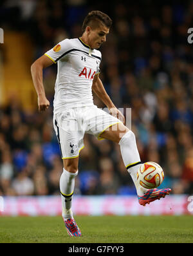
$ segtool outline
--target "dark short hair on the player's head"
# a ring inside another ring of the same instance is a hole
[[[89,12],[87,16],[85,17],[83,24],[82,24],[82,34],[86,30],[87,26],[90,26],[91,28],[98,27],[98,25],[105,25],[107,28],[110,28],[112,25],[112,19],[107,16],[107,14],[104,14],[103,12],[100,12],[98,10]]]

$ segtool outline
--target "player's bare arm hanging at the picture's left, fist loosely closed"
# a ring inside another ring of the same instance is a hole
[[[37,101],[39,112],[46,111],[50,106],[50,102],[46,98],[44,85],[43,85],[43,69],[49,67],[53,64],[53,61],[48,58],[48,56],[43,55],[35,62],[33,62],[31,66],[32,80],[33,85],[35,87],[35,91],[37,92]]]

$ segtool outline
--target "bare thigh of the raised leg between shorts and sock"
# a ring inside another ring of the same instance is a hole
[[[116,123],[100,134],[100,138],[112,140],[113,142],[118,143],[122,136],[124,136],[128,131],[129,129],[123,123]]]

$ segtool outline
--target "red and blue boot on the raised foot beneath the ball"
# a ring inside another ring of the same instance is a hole
[[[142,206],[145,206],[145,204],[149,204],[154,200],[160,200],[162,197],[164,198],[165,195],[169,195],[170,192],[171,189],[149,189],[145,195],[138,197],[138,200]]]

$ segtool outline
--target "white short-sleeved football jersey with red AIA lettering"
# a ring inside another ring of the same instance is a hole
[[[94,105],[92,84],[100,72],[101,52],[74,38],[64,39],[45,55],[58,63],[53,112]]]

